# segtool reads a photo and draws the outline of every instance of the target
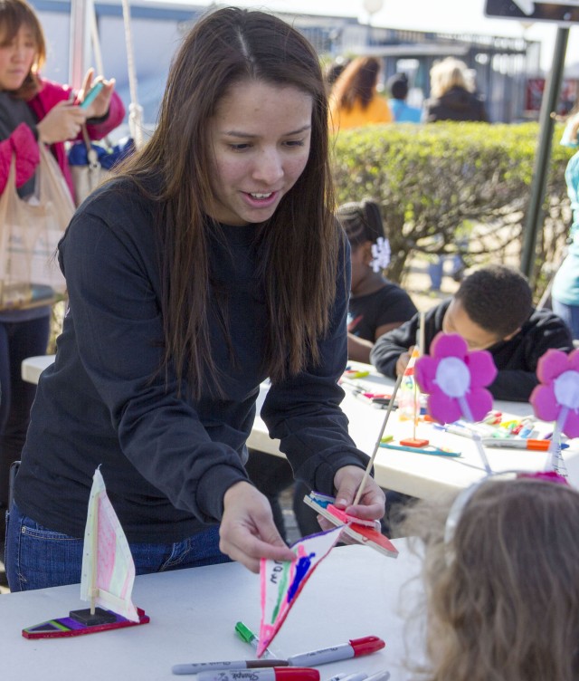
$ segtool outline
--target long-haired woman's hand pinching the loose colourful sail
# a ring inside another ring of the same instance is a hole
[[[223,496],[219,528],[220,550],[252,572],[260,559],[294,561],[296,556],[281,539],[266,497],[249,483],[233,484]]]

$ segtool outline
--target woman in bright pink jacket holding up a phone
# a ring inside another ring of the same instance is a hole
[[[33,194],[39,145],[56,158],[74,199],[64,143],[76,139],[86,123],[91,139],[102,139],[123,120],[125,108],[115,82],[94,78],[90,69],[75,92],[68,85],[43,79],[43,28],[24,0],[0,0],[0,194],[5,190],[12,158],[20,197]],[[99,95],[82,109],[78,104],[94,82]],[[50,332],[49,305],[0,310],[0,508],[8,497],[8,474],[24,446],[34,386],[20,376],[22,360],[46,352]],[[0,543],[4,523],[0,523]]]

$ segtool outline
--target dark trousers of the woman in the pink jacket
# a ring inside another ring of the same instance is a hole
[[[30,420],[36,386],[22,379],[21,365],[27,357],[46,352],[51,318],[0,321],[0,508],[8,505],[10,465],[20,458]],[[0,526],[0,538],[4,525]]]

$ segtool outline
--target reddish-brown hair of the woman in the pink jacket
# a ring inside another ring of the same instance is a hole
[[[30,100],[39,89],[38,72],[46,60],[46,43],[43,27],[31,5],[24,0],[0,0],[0,41],[7,44],[12,41],[21,26],[27,26],[33,33],[36,55],[30,72],[26,74],[23,84],[12,92],[19,100]]]

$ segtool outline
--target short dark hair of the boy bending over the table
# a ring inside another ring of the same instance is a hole
[[[533,308],[527,279],[505,265],[489,265],[473,272],[460,283],[454,297],[471,321],[500,338],[517,331]]]

